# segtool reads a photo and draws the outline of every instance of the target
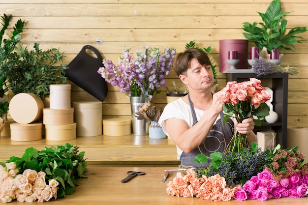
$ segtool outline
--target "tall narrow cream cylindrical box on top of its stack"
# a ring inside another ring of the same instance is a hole
[[[70,105],[70,84],[50,85],[50,109],[69,109]]]

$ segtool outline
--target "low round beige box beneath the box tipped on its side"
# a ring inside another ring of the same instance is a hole
[[[25,142],[42,139],[42,123],[12,123],[10,124],[10,128],[12,141]]]

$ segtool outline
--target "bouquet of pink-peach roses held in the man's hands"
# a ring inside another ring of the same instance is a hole
[[[245,82],[228,82],[227,86],[218,91],[218,98],[223,103],[223,113],[225,115],[223,123],[229,117],[235,117],[241,123],[248,117],[256,117],[255,125],[260,126],[261,120],[269,115],[270,108],[265,103],[271,98],[269,92],[261,86],[261,81],[250,78]],[[235,152],[242,147],[249,147],[246,134],[235,131],[230,143],[227,145],[224,154]]]

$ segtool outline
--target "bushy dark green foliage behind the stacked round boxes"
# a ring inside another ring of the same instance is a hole
[[[65,64],[59,64],[65,57],[59,49],[39,49],[39,44],[34,43],[33,50],[17,47],[17,52],[9,54],[3,65],[3,73],[7,76],[14,94],[34,93],[36,97],[49,96],[49,86],[52,84],[66,84]]]

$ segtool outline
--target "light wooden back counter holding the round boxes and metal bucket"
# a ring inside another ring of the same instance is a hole
[[[0,161],[11,156],[21,157],[28,147],[38,150],[45,146],[58,146],[69,143],[79,146],[85,151],[85,158],[89,164],[106,166],[177,166],[177,149],[169,139],[150,139],[149,136],[95,136],[77,137],[68,141],[48,141],[45,139],[16,142],[9,136],[0,137]]]

